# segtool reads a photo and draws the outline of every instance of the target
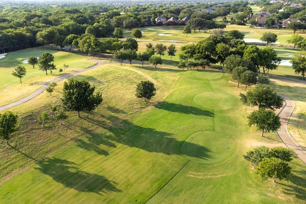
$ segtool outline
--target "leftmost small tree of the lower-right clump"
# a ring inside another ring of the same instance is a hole
[[[250,150],[243,155],[243,158],[247,161],[251,161],[253,163],[254,169],[262,161],[263,158],[267,158],[269,155],[269,148],[266,146],[260,146],[255,148],[254,150]]]

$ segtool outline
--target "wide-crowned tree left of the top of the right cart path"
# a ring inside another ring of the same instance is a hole
[[[255,89],[240,93],[240,100],[248,106],[258,106],[262,109],[275,111],[283,106],[284,98],[278,95],[272,88],[258,84]]]

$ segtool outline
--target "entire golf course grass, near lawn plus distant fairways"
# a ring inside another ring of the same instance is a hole
[[[244,87],[237,88],[219,65],[177,68],[179,47],[210,34],[196,32],[186,38],[180,26],[141,30],[144,39],[137,39],[139,51],[144,51],[148,42],[170,45],[176,40],[178,51],[172,60],[162,56],[163,65],[156,69],[148,63],[141,66],[139,61],[120,66],[104,55],[88,57],[56,48],[29,48],[0,59],[0,106],[81,69],[85,71],[73,78],[87,80],[103,97],[101,105],[82,112],[80,118],[77,112],[67,112],[63,124],[51,120],[43,126],[38,120],[40,113],[53,114],[50,107],[54,105],[61,108],[63,79],[52,94],[44,91],[9,109],[18,113],[21,128],[9,145],[0,143],[0,203],[305,204],[306,170],[300,159],[289,162],[291,174],[277,183],[262,181],[252,164],[243,159],[254,146],[282,145],[276,133],[262,137],[261,131],[248,126],[247,116],[257,108],[240,101]],[[245,37],[260,39],[261,32],[246,31]],[[292,34],[284,32],[278,34],[281,44]],[[127,29],[124,35],[129,37],[131,32]],[[284,60],[296,53],[286,46],[273,48]],[[45,51],[54,55],[57,70],[52,74],[23,63]],[[87,70],[97,61],[99,66]],[[69,68],[60,73],[64,64]],[[22,84],[11,75],[18,65],[27,70]],[[288,130],[305,149],[306,84],[288,66],[270,74],[271,86],[296,105]],[[141,80],[153,82],[156,88],[148,102],[135,97]]]

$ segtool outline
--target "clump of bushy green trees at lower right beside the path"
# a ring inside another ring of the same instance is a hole
[[[254,150],[250,150],[243,155],[243,158],[253,163],[256,173],[262,179],[272,178],[273,182],[276,179],[282,180],[291,172],[291,167],[288,162],[296,157],[295,153],[284,147],[273,147],[269,149],[265,146],[260,146]]]

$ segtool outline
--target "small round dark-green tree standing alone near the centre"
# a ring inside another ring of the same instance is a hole
[[[154,84],[150,81],[140,81],[136,85],[135,96],[137,98],[143,98],[144,102],[146,99],[151,99],[156,94]]]

